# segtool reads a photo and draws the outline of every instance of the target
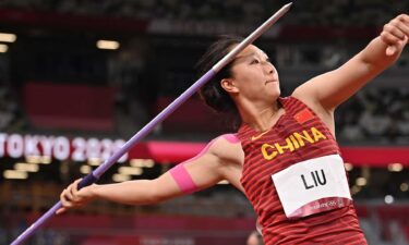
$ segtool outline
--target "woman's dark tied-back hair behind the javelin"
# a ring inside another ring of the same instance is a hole
[[[231,49],[234,48],[236,45],[240,44],[243,38],[239,36],[221,36],[217,41],[213,42],[196,64],[200,76],[209,71],[213,65],[216,64],[216,62],[221,60],[227,53],[230,52]],[[229,94],[220,85],[220,81],[222,78],[229,78],[231,75],[230,62],[210,81],[203,85],[199,94],[204,102],[216,112],[233,117],[233,127],[237,127],[237,124],[240,124],[240,120],[238,118],[236,105]]]

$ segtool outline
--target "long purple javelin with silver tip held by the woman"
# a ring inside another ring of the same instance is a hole
[[[265,33],[274,23],[276,23],[285,13],[287,13],[292,2],[284,5],[266,22],[264,22],[258,28],[250,34],[244,40],[236,46],[228,54],[226,54],[219,62],[217,62],[208,72],[206,72],[201,78],[199,78],[192,86],[190,86],[182,95],[173,100],[167,108],[165,108],[159,114],[157,114],[149,123],[147,123],[140,132],[137,132],[131,139],[129,139],[118,151],[116,151],[108,160],[99,166],[92,173],[86,175],[80,183],[79,189],[88,186],[96,181],[111,168],[118,159],[128,152],[137,142],[144,138],[153,128],[169,117],[176,109],[178,109],[184,101],[187,101],[194,93],[196,93],[205,83],[212,79],[224,66],[226,66],[234,57],[241,52],[245,47],[257,39],[263,33]],[[31,235],[33,235],[48,219],[50,219],[58,209],[62,207],[61,201],[58,201],[52,208],[44,213],[36,222],[27,228],[11,245],[22,244]]]

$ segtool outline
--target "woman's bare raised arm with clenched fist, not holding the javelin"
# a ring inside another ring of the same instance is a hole
[[[339,69],[314,77],[294,90],[309,106],[334,110],[400,56],[409,37],[409,15],[387,23],[378,37]]]

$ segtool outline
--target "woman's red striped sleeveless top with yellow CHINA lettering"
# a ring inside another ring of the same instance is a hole
[[[314,207],[311,206],[298,209],[292,212],[296,213],[296,218],[285,212],[282,201],[287,198],[291,203],[291,198],[298,196],[285,197],[286,194],[293,194],[293,182],[280,184],[277,176],[287,174],[284,176],[286,182],[286,177],[291,176],[286,173],[287,170],[292,171],[292,168],[297,169],[305,162],[309,164],[309,161],[314,162],[315,159],[340,156],[340,150],[327,126],[303,102],[293,97],[278,98],[278,102],[284,107],[285,114],[269,131],[256,132],[243,123],[237,133],[244,151],[240,181],[258,216],[264,243],[366,244],[356,210],[348,198],[335,199],[334,204],[339,200],[340,205],[332,208],[328,208],[332,203],[327,201],[326,207],[322,203],[321,206],[318,204],[316,207],[320,208],[315,211],[312,211]],[[315,161],[313,164],[320,167],[322,163]],[[332,161],[328,166],[329,171],[333,171]],[[338,175],[345,175],[347,179],[344,162],[340,171],[341,174]],[[320,187],[329,181],[323,179],[323,174],[324,172],[320,171],[311,171],[311,175],[301,174],[300,183],[303,182],[305,189]],[[278,185],[282,185],[284,187],[279,188],[285,189],[280,195],[277,193]],[[348,189],[347,181],[345,186]],[[350,196],[349,189],[347,192]]]

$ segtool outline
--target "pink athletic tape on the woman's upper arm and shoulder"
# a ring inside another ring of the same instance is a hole
[[[237,138],[237,136],[233,135],[233,134],[225,134],[225,135],[221,135],[221,137],[224,137],[229,143],[239,143],[240,142]],[[199,191],[197,185],[193,182],[192,176],[189,174],[189,172],[184,168],[184,164],[194,160],[194,159],[196,159],[196,158],[200,158],[201,156],[203,156],[208,150],[208,148],[213,145],[214,142],[215,142],[215,139],[213,139],[196,157],[194,157],[194,158],[192,158],[192,159],[190,159],[185,162],[179,163],[178,166],[176,166],[175,168],[169,170],[173,180],[176,181],[176,183],[178,184],[178,186],[180,187],[180,189],[183,193],[191,194],[191,193],[194,193],[194,192]]]

